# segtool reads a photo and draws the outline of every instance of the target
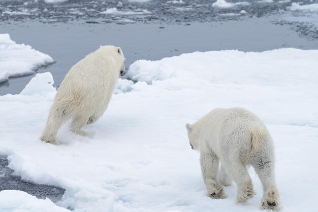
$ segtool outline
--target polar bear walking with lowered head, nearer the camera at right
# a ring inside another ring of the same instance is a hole
[[[256,193],[246,169],[252,165],[264,189],[261,207],[279,210],[273,141],[260,118],[243,108],[214,109],[196,123],[186,124],[186,129],[190,146],[200,151],[209,197],[226,198],[222,185],[230,186],[234,180],[236,202],[252,198]]]

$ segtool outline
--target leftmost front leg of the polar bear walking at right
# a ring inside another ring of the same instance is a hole
[[[212,199],[226,198],[222,185],[217,182],[218,159],[214,153],[201,153],[201,171],[204,183],[208,190],[208,197]]]

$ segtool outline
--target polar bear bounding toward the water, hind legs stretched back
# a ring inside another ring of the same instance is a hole
[[[69,119],[70,130],[85,135],[81,128],[97,121],[107,109],[117,78],[125,74],[124,61],[119,47],[101,46],[76,63],[57,89],[40,139],[57,144],[57,130]]]

